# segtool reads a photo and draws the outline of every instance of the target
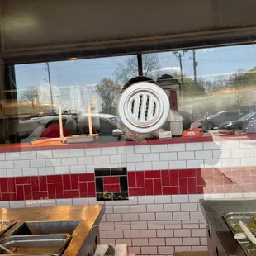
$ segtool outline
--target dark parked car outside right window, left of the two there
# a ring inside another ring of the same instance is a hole
[[[244,116],[245,111],[221,111],[207,117],[208,130],[212,130],[227,121],[239,120]]]

